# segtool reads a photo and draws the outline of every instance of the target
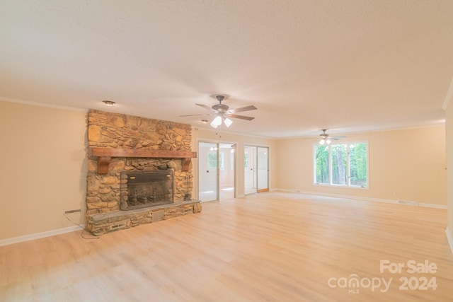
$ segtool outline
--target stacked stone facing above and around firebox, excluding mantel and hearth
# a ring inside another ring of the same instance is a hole
[[[132,115],[90,110],[88,146],[121,149],[190,151],[189,124],[154,120]],[[175,201],[183,200],[193,189],[192,168],[182,170],[180,158],[112,158],[108,173],[97,173],[96,156],[88,158],[86,216],[120,209],[120,174],[124,171],[171,169],[174,173]]]

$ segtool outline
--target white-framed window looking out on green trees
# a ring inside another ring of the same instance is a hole
[[[314,182],[368,187],[368,144],[354,142],[314,146]]]

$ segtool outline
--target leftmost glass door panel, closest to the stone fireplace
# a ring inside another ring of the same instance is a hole
[[[215,143],[198,143],[198,199],[210,202],[219,199],[218,162],[219,148]]]

